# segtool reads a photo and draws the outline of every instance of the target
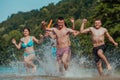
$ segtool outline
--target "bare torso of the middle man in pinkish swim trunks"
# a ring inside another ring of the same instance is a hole
[[[65,48],[70,46],[69,31],[66,27],[61,30],[54,29],[56,33],[57,48]]]

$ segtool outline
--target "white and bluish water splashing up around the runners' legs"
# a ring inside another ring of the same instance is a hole
[[[10,67],[0,67],[0,73],[2,75],[19,75],[19,76],[31,76],[31,75],[48,75],[48,76],[59,76],[59,70],[56,58],[52,56],[51,43],[46,43],[45,45],[39,46],[36,50],[35,64],[37,65],[37,71],[34,74],[27,74],[22,61],[12,61]],[[119,58],[116,58],[120,50],[107,51],[106,53],[112,54],[108,55],[113,67],[112,74],[116,75],[116,68],[120,65]],[[13,55],[15,57],[15,55]],[[16,57],[15,57],[16,59]],[[105,69],[106,70],[106,69]],[[84,56],[76,56],[71,59],[68,71],[65,71],[64,77],[93,77],[97,76],[98,72],[96,66],[92,60],[89,60]]]

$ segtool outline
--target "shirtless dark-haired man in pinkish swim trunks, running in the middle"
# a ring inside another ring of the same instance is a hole
[[[75,31],[73,29],[67,28],[65,26],[64,19],[59,17],[57,20],[57,28],[46,28],[48,31],[53,31],[55,35],[52,38],[56,38],[57,42],[57,61],[59,64],[59,71],[62,72],[61,64],[63,64],[64,69],[68,69],[69,60],[71,56],[70,49],[70,38],[69,34],[73,33],[73,35],[78,35],[79,31]]]

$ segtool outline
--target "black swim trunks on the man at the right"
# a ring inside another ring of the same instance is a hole
[[[93,48],[93,53],[94,53],[94,57],[95,57],[95,62],[97,63],[101,58],[99,57],[98,55],[98,50],[103,50],[103,52],[105,52],[106,50],[106,45],[101,45],[101,46],[98,46],[98,47],[94,47]]]

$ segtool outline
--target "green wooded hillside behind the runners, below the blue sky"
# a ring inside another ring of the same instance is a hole
[[[12,14],[6,21],[0,23],[0,64],[10,62],[14,57],[14,52],[18,53],[17,59],[20,58],[22,53],[11,44],[11,39],[16,38],[19,41],[23,27],[29,27],[32,30],[31,35],[38,37],[39,33],[44,34],[41,30],[41,21],[49,22],[50,19],[53,19],[55,23],[59,16],[65,18],[68,27],[72,26],[69,19],[74,17],[76,30],[79,30],[81,19],[87,18],[89,21],[87,27],[89,27],[93,25],[95,18],[99,18],[112,37],[120,42],[119,4],[119,0],[61,0],[56,5],[51,3],[40,10],[34,9],[30,12]],[[71,36],[71,41],[74,54],[82,55],[84,53],[91,56],[92,45],[89,34]],[[107,43],[109,42],[107,41]],[[77,52],[78,50],[79,52]]]

